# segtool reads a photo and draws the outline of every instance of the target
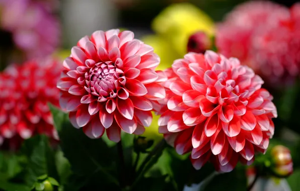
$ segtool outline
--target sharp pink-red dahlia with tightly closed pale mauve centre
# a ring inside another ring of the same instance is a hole
[[[160,58],[133,38],[131,31],[96,31],[83,37],[63,62],[57,83],[60,106],[90,138],[105,130],[114,142],[120,141],[121,129],[142,134],[151,124],[151,110],[159,109],[157,100],[165,98],[159,83],[166,77],[154,70]]]

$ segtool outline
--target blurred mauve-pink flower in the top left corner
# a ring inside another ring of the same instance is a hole
[[[16,46],[28,58],[49,55],[59,45],[59,21],[51,14],[54,2],[57,1],[0,1],[0,26],[12,33]]]

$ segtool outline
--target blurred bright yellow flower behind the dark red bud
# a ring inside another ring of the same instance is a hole
[[[193,33],[202,31],[208,36],[214,34],[214,24],[209,16],[188,3],[174,4],[163,10],[154,19],[152,28],[180,56],[186,54],[188,38]]]

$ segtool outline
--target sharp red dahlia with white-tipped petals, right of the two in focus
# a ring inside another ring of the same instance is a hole
[[[168,80],[159,131],[179,154],[191,151],[196,169],[211,161],[219,171],[238,161],[250,164],[265,152],[277,117],[263,80],[236,58],[206,51],[175,60]]]

